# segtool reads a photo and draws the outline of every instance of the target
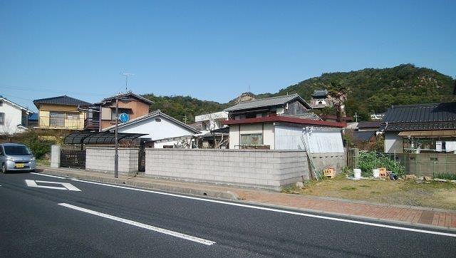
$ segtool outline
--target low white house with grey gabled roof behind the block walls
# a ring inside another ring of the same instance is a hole
[[[114,126],[105,128],[103,131],[108,130],[114,132]],[[154,148],[175,148],[182,143],[190,147],[192,137],[201,133],[160,110],[120,123],[118,132],[145,133],[147,135],[143,135],[141,138],[150,140]]]

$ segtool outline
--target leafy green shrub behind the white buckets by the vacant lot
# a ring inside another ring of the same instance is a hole
[[[387,170],[396,175],[404,175],[405,168],[400,162],[391,160],[388,155],[375,153],[373,151],[360,151],[358,156],[358,166],[363,172],[363,176],[372,174],[374,168],[386,167]]]

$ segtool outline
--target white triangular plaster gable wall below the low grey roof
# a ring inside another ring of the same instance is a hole
[[[155,121],[155,118],[160,118],[161,121],[157,122]],[[123,128],[119,128],[119,133],[147,133],[147,135],[144,135],[141,138],[150,138],[152,140],[175,138],[195,134],[186,128],[170,122],[170,120],[167,120],[160,115],[138,123],[127,125]]]

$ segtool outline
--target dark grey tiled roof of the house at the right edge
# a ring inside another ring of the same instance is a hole
[[[381,127],[385,131],[456,129],[456,102],[393,105]]]

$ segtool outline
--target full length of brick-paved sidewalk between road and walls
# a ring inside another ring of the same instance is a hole
[[[415,225],[432,225],[456,229],[456,210],[440,210],[426,207],[386,205],[355,200],[336,200],[311,195],[293,195],[265,190],[253,190],[222,185],[156,180],[150,177],[128,177],[120,175],[118,180],[112,174],[44,168],[44,173],[86,178],[100,182],[145,187],[155,190],[182,192],[190,195],[204,195],[222,199],[237,199],[264,205],[279,205],[304,210],[328,212],[338,215],[369,217],[379,220],[393,220]]]

